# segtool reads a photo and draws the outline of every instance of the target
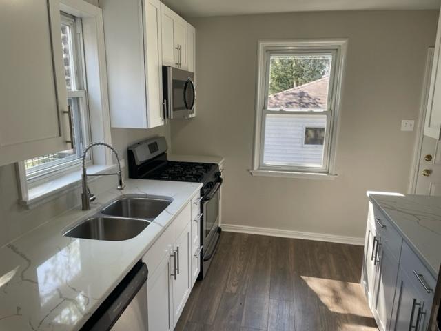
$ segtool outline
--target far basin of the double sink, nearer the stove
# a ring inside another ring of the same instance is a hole
[[[125,196],[107,205],[101,214],[153,221],[170,203],[172,199],[165,197]]]

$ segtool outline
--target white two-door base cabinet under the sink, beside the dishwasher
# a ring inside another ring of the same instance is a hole
[[[194,284],[191,203],[145,253],[149,330],[174,330]],[[197,278],[197,275],[196,275]]]

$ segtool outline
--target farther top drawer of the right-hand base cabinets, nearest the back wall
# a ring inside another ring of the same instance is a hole
[[[391,253],[400,259],[400,251],[402,245],[402,237],[398,231],[393,228],[391,222],[384,216],[384,214],[374,205],[373,206],[373,222],[376,228],[376,233],[380,237],[381,244],[387,245]]]

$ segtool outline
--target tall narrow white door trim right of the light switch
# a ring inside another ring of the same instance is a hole
[[[420,102],[420,112],[418,114],[418,128],[416,130],[416,141],[413,147],[413,159],[411,163],[411,175],[409,178],[409,188],[407,192],[409,194],[415,194],[416,182],[418,180],[418,167],[420,165],[422,138],[424,136],[424,122],[426,119],[427,103],[429,101],[429,87],[431,80],[431,71],[433,66],[433,54],[435,47],[431,46],[427,50],[426,66],[424,68],[424,80],[422,84],[422,94]]]

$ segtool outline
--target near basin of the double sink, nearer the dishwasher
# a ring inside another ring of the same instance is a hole
[[[149,224],[150,221],[141,219],[94,216],[76,225],[64,235],[72,238],[123,241],[136,237]]]

